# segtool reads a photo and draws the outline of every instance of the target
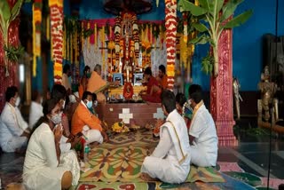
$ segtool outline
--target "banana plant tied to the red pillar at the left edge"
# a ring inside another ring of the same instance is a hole
[[[0,34],[3,36],[3,39],[4,39],[5,50],[11,49],[11,48],[8,48],[9,47],[9,44],[8,44],[8,28],[9,28],[12,20],[15,20],[17,18],[18,14],[20,12],[20,7],[23,4],[23,1],[24,0],[18,0],[16,2],[16,4],[14,4],[12,9],[10,9],[10,6],[9,6],[7,0],[1,0],[0,1]],[[11,52],[12,51],[10,51],[10,53]],[[8,52],[5,51],[6,57],[7,57],[7,53]],[[4,59],[4,60],[5,60],[5,69],[6,69],[5,75],[8,76],[9,72],[8,72],[7,59]]]

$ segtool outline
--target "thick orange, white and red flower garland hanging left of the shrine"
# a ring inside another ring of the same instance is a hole
[[[63,0],[49,0],[49,6],[51,12],[51,59],[53,61],[54,83],[61,83],[63,61]]]

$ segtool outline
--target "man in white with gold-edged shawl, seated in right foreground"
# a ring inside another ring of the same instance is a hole
[[[162,124],[158,146],[142,164],[141,178],[182,183],[189,173],[191,156],[185,120],[177,113],[173,92],[162,92],[162,110],[167,119]]]

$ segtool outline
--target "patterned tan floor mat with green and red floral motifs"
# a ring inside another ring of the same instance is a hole
[[[144,182],[140,178],[142,163],[157,144],[149,131],[114,135],[109,143],[91,150],[90,161],[85,163],[80,181]],[[185,182],[224,182],[212,167],[191,167]]]

